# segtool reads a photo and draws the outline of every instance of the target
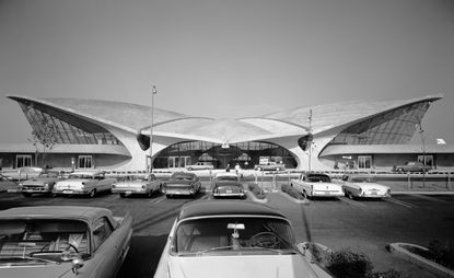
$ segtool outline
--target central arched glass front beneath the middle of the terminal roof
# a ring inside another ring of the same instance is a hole
[[[263,158],[282,162],[288,169],[296,166],[293,155],[273,143],[251,141],[229,144],[229,148],[222,147],[206,141],[175,143],[160,152],[153,161],[153,167],[184,167],[198,161],[211,161],[216,169],[234,167],[236,163],[243,169],[253,169]]]

